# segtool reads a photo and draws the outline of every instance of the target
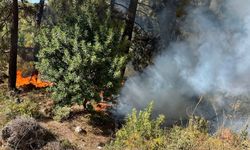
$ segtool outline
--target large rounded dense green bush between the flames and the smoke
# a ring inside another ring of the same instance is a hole
[[[98,100],[100,91],[111,95],[120,86],[120,70],[126,61],[119,51],[122,28],[110,23],[107,11],[100,19],[98,6],[84,2],[77,6],[79,12],[70,14],[70,21],[66,17],[64,22],[44,28],[38,37],[37,68],[55,83],[51,90],[57,104]]]

